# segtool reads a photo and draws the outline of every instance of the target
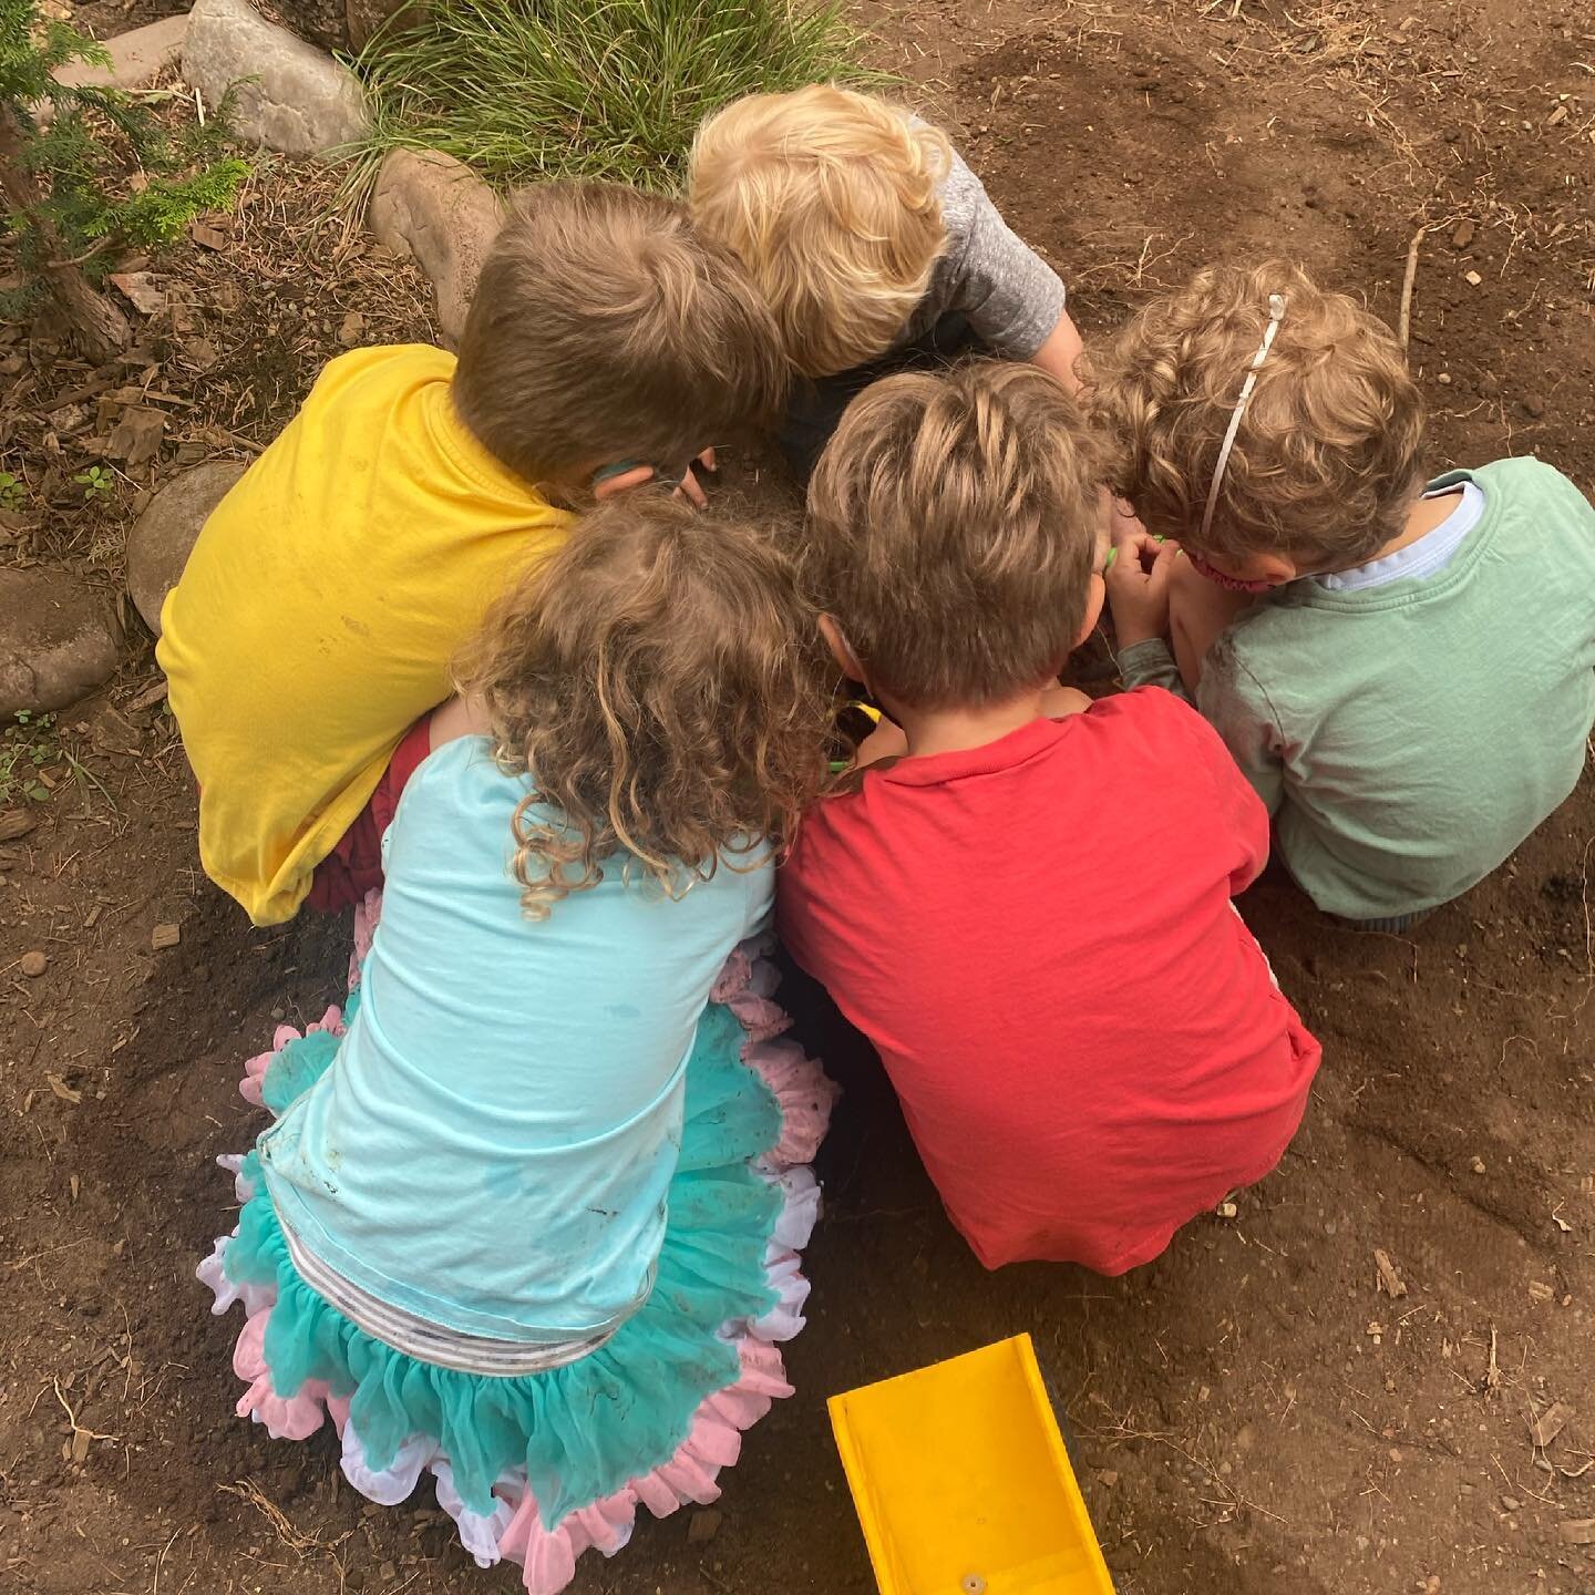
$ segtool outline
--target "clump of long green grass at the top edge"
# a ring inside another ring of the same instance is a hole
[[[357,180],[407,147],[501,183],[668,191],[697,124],[729,100],[880,80],[841,0],[434,0],[405,16],[357,62],[375,112]]]

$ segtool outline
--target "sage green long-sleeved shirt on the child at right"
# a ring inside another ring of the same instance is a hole
[[[1362,589],[1292,582],[1203,662],[1196,707],[1274,813],[1290,874],[1329,914],[1372,920],[1451,901],[1584,769],[1595,510],[1538,459],[1455,471],[1429,491],[1463,482],[1483,491],[1483,514],[1443,569]],[[1148,654],[1126,651],[1126,686],[1161,679]]]

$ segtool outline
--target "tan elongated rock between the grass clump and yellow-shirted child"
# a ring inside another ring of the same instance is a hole
[[[455,348],[482,262],[504,225],[498,195],[440,150],[394,150],[376,174],[368,215],[380,244],[415,255],[437,297],[443,343]]]

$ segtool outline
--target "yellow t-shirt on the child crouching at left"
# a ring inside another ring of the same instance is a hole
[[[161,611],[199,858],[257,925],[293,917],[488,603],[569,526],[466,431],[453,375],[424,345],[333,360]]]

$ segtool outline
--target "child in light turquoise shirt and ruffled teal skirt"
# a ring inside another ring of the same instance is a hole
[[[432,716],[357,992],[246,1080],[276,1121],[199,1270],[239,1412],[330,1413],[375,1501],[429,1471],[534,1595],[790,1392],[831,1088],[751,949],[825,772],[810,635],[759,533],[593,515]]]

